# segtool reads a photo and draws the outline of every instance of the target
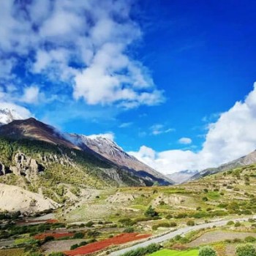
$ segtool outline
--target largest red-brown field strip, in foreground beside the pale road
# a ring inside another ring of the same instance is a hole
[[[149,234],[139,234],[139,233],[124,233],[118,236],[114,236],[113,238],[108,238],[103,241],[97,241],[92,244],[88,244],[86,246],[81,246],[72,251],[64,252],[65,255],[75,256],[75,255],[86,255],[92,252],[97,252],[101,249],[105,249],[110,245],[118,245],[125,244],[130,241],[136,241],[143,238],[148,238],[151,235]]]

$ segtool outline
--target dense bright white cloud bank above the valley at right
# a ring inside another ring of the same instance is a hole
[[[249,154],[256,149],[256,83],[244,99],[208,125],[206,140],[198,152],[184,150],[154,151],[146,146],[129,152],[162,173],[203,170]],[[150,152],[150,154],[148,154]]]

